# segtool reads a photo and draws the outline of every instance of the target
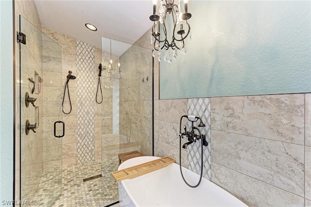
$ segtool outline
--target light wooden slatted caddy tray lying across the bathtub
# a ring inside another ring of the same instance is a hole
[[[115,181],[119,182],[121,180],[132,179],[134,177],[138,177],[143,174],[151,173],[153,171],[164,168],[174,162],[175,160],[173,158],[166,156],[130,168],[125,168],[120,171],[113,172],[111,174],[115,179]]]

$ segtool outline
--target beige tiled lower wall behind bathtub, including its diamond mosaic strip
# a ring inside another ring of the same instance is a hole
[[[155,155],[179,163],[186,114],[207,125],[205,177],[249,206],[311,206],[310,93],[155,100]],[[188,145],[182,165],[200,173],[200,155]]]

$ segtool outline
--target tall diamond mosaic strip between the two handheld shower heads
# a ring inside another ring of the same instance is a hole
[[[77,163],[95,160],[94,47],[76,40]]]

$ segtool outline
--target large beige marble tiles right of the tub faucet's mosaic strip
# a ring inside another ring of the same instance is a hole
[[[310,94],[211,98],[211,181],[250,206],[307,204],[309,101]]]

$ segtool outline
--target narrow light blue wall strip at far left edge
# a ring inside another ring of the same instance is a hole
[[[0,0],[0,201],[13,199],[13,3]]]

